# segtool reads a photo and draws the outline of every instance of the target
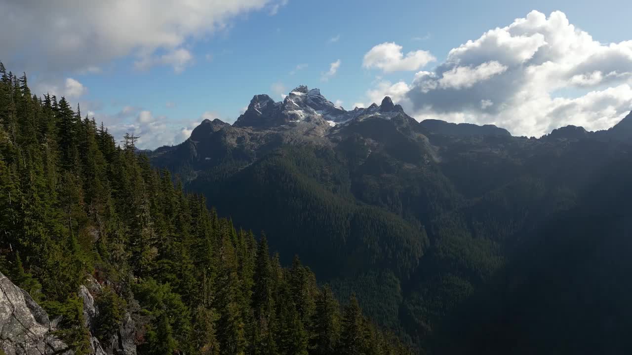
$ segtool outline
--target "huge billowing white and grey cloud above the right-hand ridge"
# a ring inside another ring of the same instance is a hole
[[[399,46],[392,52],[394,60],[370,57],[365,66],[400,63]],[[564,13],[532,11],[452,49],[408,82],[379,81],[367,97],[377,102],[388,93],[420,120],[497,124],[526,136],[566,124],[605,129],[632,109],[632,40],[602,44]]]

